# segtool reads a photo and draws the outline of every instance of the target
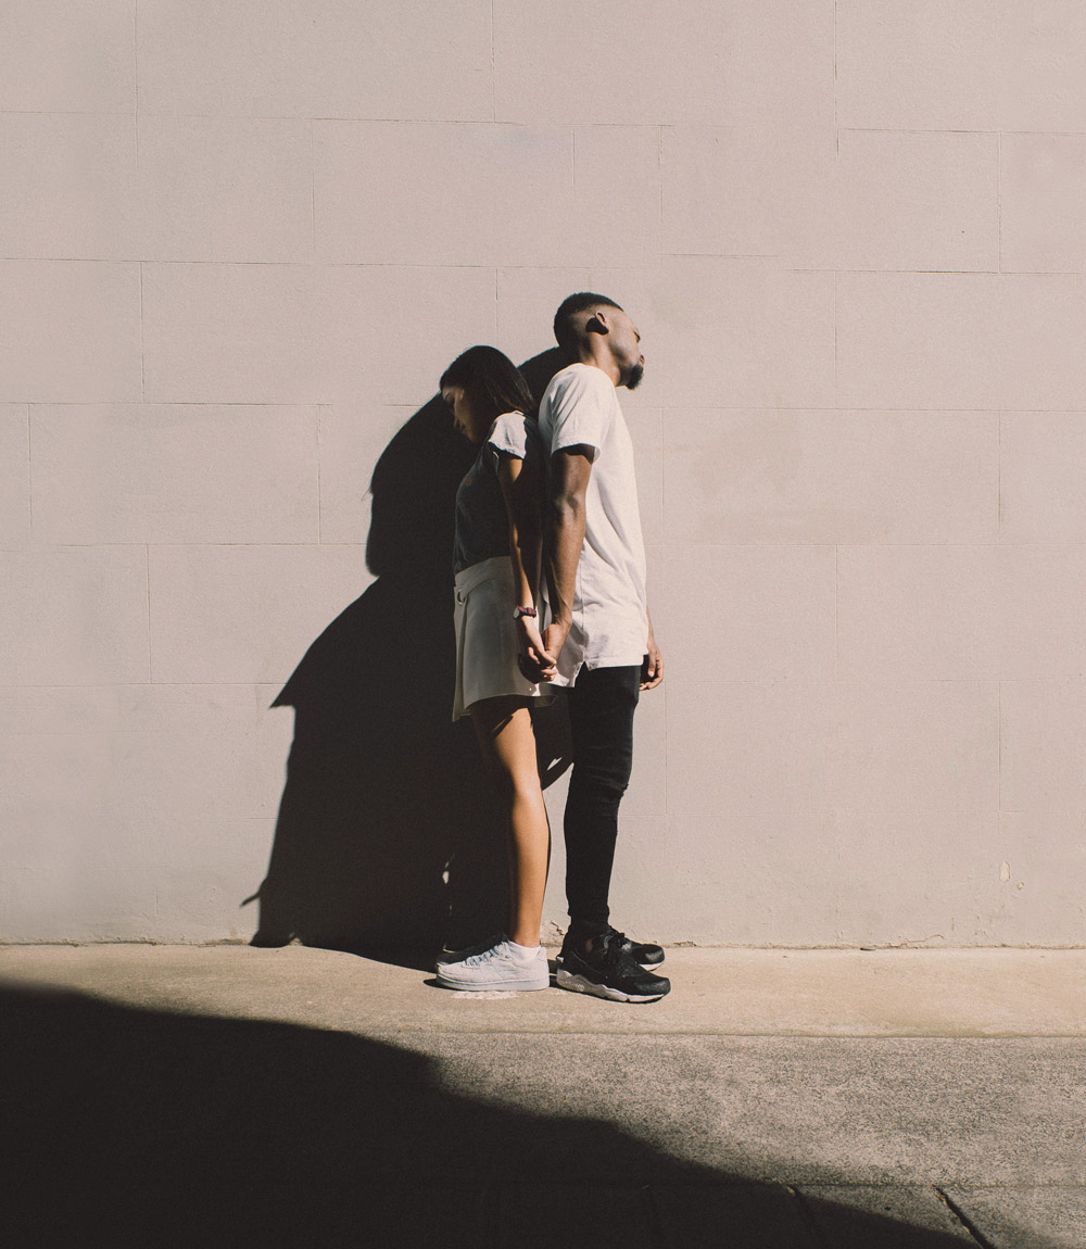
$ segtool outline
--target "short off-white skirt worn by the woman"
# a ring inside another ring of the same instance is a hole
[[[453,622],[457,638],[457,689],[453,719],[482,698],[519,694],[541,704],[554,701],[548,686],[533,684],[517,667],[519,644],[513,620],[513,566],[503,555],[457,573]]]

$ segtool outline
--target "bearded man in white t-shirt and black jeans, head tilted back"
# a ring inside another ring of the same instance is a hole
[[[615,388],[644,372],[640,335],[603,295],[570,295],[554,336],[572,360],[547,387],[539,428],[550,447],[552,501],[544,654],[528,653],[544,679],[569,687],[573,771],[565,803],[569,932],[558,984],[617,1002],[654,1002],[672,988],[647,970],[659,945],[610,927],[608,894],[618,807],[633,764],[642,689],[664,678],[645,602],[645,551],[633,443]]]

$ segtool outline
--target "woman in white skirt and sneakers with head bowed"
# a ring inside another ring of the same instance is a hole
[[[538,682],[554,674],[537,607],[547,453],[528,386],[497,348],[471,347],[457,357],[441,393],[457,431],[479,448],[457,491],[453,719],[472,718],[508,837],[511,914],[507,933],[442,954],[437,978],[476,992],[545,989],[539,923],[550,828],[529,707],[550,701]]]

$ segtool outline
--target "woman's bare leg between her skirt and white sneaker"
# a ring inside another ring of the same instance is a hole
[[[538,945],[550,824],[539,787],[532,716],[527,701],[516,697],[483,698],[468,709],[508,837],[509,937],[519,945]]]

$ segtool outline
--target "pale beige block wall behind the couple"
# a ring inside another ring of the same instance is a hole
[[[668,663],[618,922],[1082,943],[1084,59],[1079,0],[7,0],[0,937],[487,892],[428,400],[590,287]]]

